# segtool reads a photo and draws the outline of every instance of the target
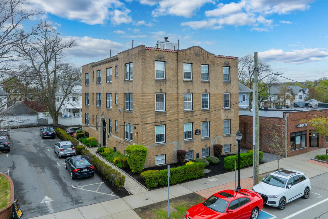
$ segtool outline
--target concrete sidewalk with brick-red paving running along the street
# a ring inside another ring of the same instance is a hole
[[[293,157],[283,158],[279,161],[279,168],[302,171],[309,178],[328,172],[328,164],[311,160],[317,154],[326,154],[325,148],[320,148]],[[277,161],[271,161],[259,165],[259,174],[273,172],[276,169]],[[240,170],[240,185],[242,188],[251,189],[253,187],[252,176],[253,167]],[[127,181],[129,182],[130,180]],[[224,189],[235,189],[235,172],[224,173],[211,178],[197,179],[187,183],[170,186],[170,199],[192,192],[203,197],[209,197],[213,193]],[[34,217],[33,219],[140,219],[140,217],[134,212],[134,208],[165,201],[167,198],[167,187],[164,187],[151,191],[142,191],[140,193],[135,193],[124,198],[114,199],[107,202]]]

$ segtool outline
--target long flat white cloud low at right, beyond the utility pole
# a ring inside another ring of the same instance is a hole
[[[284,52],[281,49],[271,49],[258,53],[258,56],[266,62],[277,61],[291,64],[302,64],[319,61],[323,57],[328,57],[328,52],[320,51],[319,48],[292,50],[292,52]]]

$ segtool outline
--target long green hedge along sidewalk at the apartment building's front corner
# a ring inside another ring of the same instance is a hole
[[[204,176],[204,168],[203,162],[171,168],[170,185]],[[145,181],[147,188],[168,185],[167,169],[148,173]]]

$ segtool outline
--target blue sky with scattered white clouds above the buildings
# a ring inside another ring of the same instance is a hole
[[[305,81],[328,77],[327,0],[27,0],[42,10],[81,66],[157,40],[216,55],[258,52],[273,72]],[[26,25],[28,27],[28,25]],[[281,81],[285,79],[280,78]]]

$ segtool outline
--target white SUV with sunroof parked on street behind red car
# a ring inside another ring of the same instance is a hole
[[[288,202],[299,197],[307,199],[311,182],[302,172],[284,169],[269,174],[252,190],[262,196],[264,204],[283,210]]]

